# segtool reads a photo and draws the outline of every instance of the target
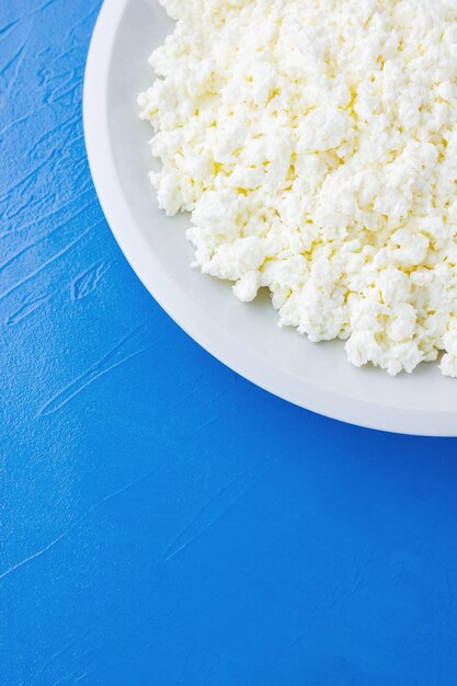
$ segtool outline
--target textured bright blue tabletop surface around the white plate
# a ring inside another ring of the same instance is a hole
[[[269,396],[146,293],[84,151],[100,4],[0,2],[0,682],[454,686],[456,442]]]

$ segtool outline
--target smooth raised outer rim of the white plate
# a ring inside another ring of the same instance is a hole
[[[396,408],[329,390],[311,381],[294,388],[238,340],[227,341],[212,320],[182,293],[137,227],[117,175],[110,139],[107,87],[111,55],[129,0],[104,0],[92,34],[84,72],[83,129],[95,191],[126,260],[157,302],[196,343],[224,365],[267,392],[308,411],[349,424],[416,436],[457,436],[457,412]],[[139,119],[138,119],[139,122]],[[145,258],[147,255],[147,258]],[[296,384],[296,386],[298,386]]]

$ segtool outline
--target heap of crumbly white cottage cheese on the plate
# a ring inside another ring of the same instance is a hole
[[[195,265],[349,359],[457,377],[455,0],[160,0],[139,96]]]

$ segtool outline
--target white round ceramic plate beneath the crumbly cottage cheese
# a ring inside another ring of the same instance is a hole
[[[262,388],[345,422],[386,431],[457,435],[457,380],[437,366],[390,378],[356,369],[341,342],[311,344],[276,327],[267,296],[242,305],[229,284],[188,268],[188,217],[168,219],[148,180],[152,129],[137,94],[148,57],[172,28],[157,0],[105,0],[90,48],[84,129],[95,187],[127,260],[153,297],[203,347]],[[119,294],[121,295],[121,294]]]

